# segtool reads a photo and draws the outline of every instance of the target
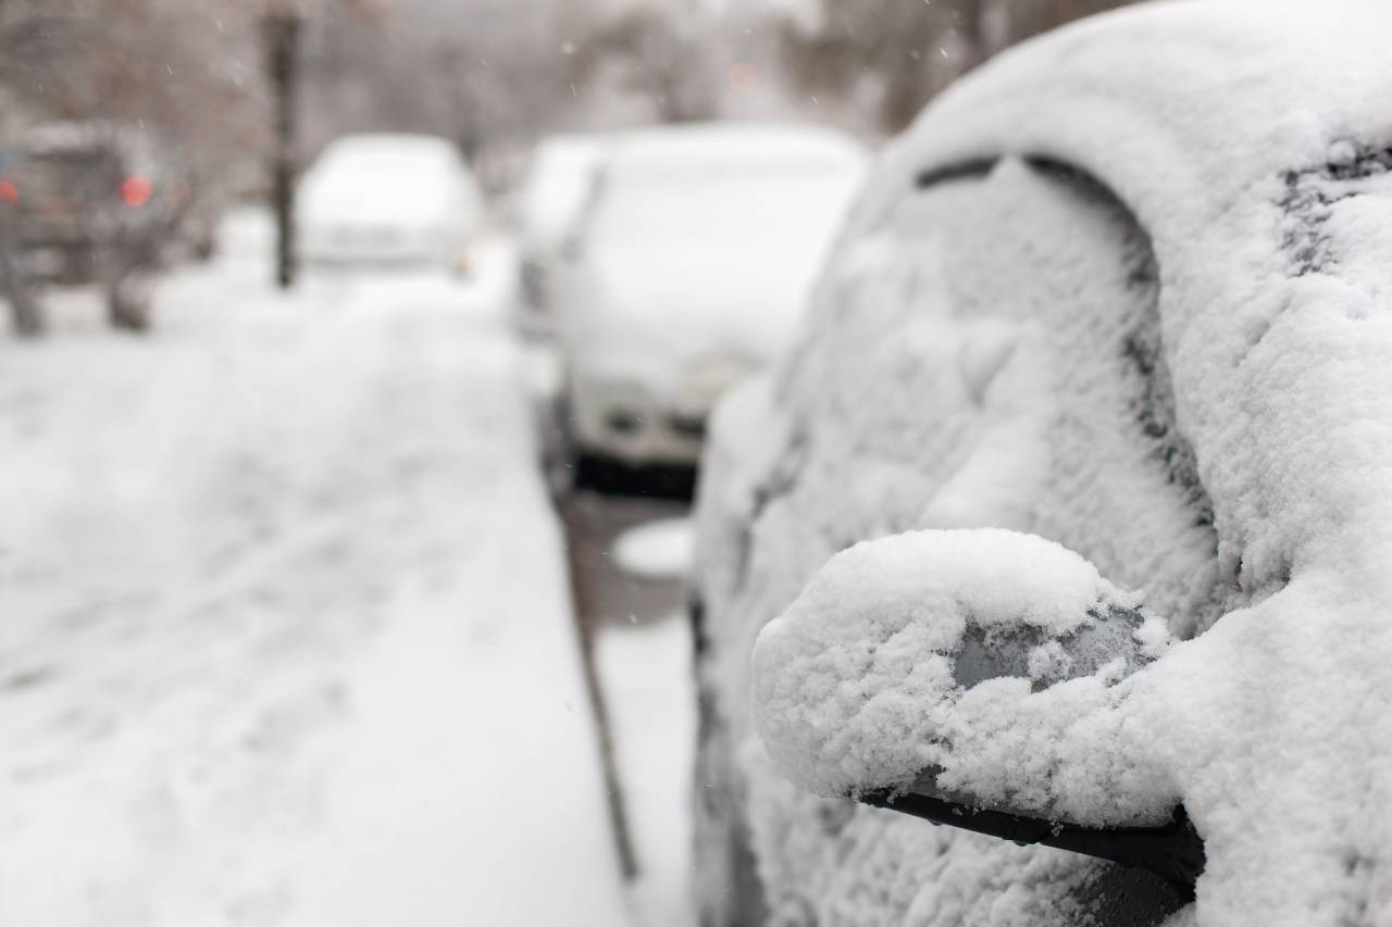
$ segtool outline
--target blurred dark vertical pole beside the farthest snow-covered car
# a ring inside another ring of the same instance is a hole
[[[299,60],[299,17],[267,13],[266,70],[274,107],[271,154],[271,209],[276,213],[276,283],[281,290],[295,281],[295,77]]]

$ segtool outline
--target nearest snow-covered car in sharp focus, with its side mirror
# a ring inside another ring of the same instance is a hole
[[[702,923],[1392,923],[1389,43],[1133,7],[891,145],[713,422]]]

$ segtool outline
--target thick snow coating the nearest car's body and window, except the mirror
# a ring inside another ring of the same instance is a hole
[[[1079,917],[1059,887],[1089,863],[793,792],[741,708],[754,633],[831,554],[997,526],[1144,590],[1183,642],[1105,697],[955,703],[1009,703],[992,736],[1018,749],[1070,715],[1105,802],[1091,775],[1029,798],[1029,764],[955,785],[1111,823],[1182,800],[1201,924],[1392,919],[1389,42],[1384,4],[1128,10],[981,68],[884,157],[756,420],[780,451],[728,477],[743,498],[703,490],[728,551],[702,580],[711,672],[775,914]]]

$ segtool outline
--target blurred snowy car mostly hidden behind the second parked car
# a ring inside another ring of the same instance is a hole
[[[536,146],[522,188],[518,230],[518,323],[544,333],[551,322],[551,290],[562,252],[571,244],[604,159],[603,135],[553,135]]]

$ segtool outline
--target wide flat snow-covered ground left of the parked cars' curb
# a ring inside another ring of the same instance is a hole
[[[505,256],[234,232],[0,340],[0,923],[625,923]]]

